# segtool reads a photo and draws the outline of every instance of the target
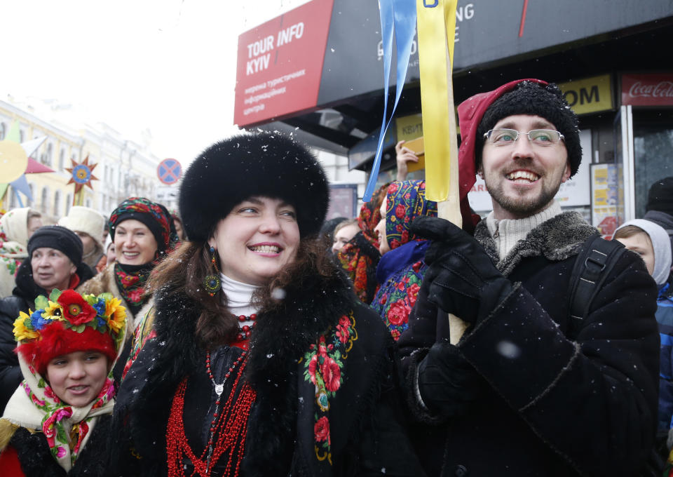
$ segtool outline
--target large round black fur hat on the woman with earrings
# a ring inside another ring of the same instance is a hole
[[[278,132],[236,135],[205,149],[182,179],[187,238],[207,241],[217,223],[252,196],[294,206],[302,237],[318,233],[329,205],[325,171],[306,147]]]

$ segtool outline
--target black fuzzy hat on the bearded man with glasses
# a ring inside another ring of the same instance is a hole
[[[498,121],[515,114],[530,114],[541,116],[550,121],[559,133],[564,135],[564,143],[570,161],[570,175],[573,176],[582,161],[582,146],[580,145],[580,130],[577,116],[570,109],[563,93],[554,83],[542,85],[532,81],[522,81],[515,89],[503,94],[495,100],[477,128],[477,167],[481,165],[481,152],[484,146],[484,133],[493,129]]]

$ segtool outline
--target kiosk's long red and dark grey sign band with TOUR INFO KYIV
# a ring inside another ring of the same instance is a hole
[[[514,8],[512,3],[519,6]],[[523,54],[546,54],[559,45],[596,39],[672,15],[673,1],[669,0],[458,0],[454,72],[506,58],[515,61]],[[414,38],[405,83],[419,81],[419,77]],[[393,67],[392,90],[396,83]],[[660,101],[668,93],[658,88],[651,93],[647,86],[634,88],[634,93],[640,98],[656,95]],[[383,48],[376,0],[313,0],[238,37],[234,107],[238,126],[284,119],[382,89]]]

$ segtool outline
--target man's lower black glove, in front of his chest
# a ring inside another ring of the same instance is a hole
[[[484,394],[486,382],[458,348],[435,343],[419,364],[419,392],[426,407],[436,414],[463,414]]]

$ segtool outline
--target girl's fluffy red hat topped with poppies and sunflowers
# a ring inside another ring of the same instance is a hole
[[[96,297],[55,290],[49,300],[37,297],[35,307],[20,312],[13,331],[16,351],[41,375],[53,358],[74,351],[100,351],[114,363],[126,328],[121,300],[110,293]]]

